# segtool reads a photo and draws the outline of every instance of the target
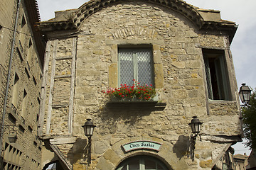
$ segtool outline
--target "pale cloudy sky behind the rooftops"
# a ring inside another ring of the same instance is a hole
[[[82,6],[86,0],[37,0],[41,21],[54,18],[54,11],[63,11]],[[238,30],[233,38],[230,50],[233,54],[238,89],[242,83],[256,87],[256,1],[255,0],[185,0],[188,4],[199,8],[220,11],[223,20],[233,21]],[[240,146],[241,145],[241,146]],[[235,146],[235,154],[250,154],[242,144]]]

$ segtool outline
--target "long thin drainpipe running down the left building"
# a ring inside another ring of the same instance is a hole
[[[6,83],[6,94],[5,94],[5,97],[4,97],[4,108],[3,108],[2,122],[1,122],[1,127],[0,127],[1,132],[4,129],[3,125],[4,125],[5,115],[6,115],[6,104],[7,104],[7,97],[8,97],[10,77],[11,77],[11,63],[12,63],[12,60],[13,60],[13,57],[14,57],[14,46],[15,46],[15,38],[16,38],[16,30],[17,30],[17,25],[18,25],[18,13],[19,13],[20,4],[21,4],[21,0],[18,0],[16,20],[15,20],[15,25],[14,25],[14,36],[13,36],[13,40],[12,40],[11,55],[10,55],[10,60],[9,60],[9,70],[8,70],[8,77],[7,77],[7,83]],[[1,157],[1,154],[2,154],[1,152],[2,152],[3,137],[4,137],[4,134],[1,135],[1,137],[0,137],[0,157]],[[1,167],[1,169],[2,168],[3,167]]]

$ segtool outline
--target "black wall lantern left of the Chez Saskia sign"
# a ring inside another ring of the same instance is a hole
[[[85,122],[85,125],[82,125],[82,128],[85,131],[85,136],[88,137],[88,145],[87,145],[87,162],[88,164],[91,163],[91,145],[92,145],[92,134],[93,131],[95,129],[95,125],[93,125],[91,119],[87,119],[87,121]]]

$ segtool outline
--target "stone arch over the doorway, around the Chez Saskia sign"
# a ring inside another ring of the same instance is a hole
[[[124,152],[122,145],[128,142],[138,141],[138,140],[160,142],[162,144],[161,149],[159,150],[159,152],[147,150],[147,149],[138,149],[138,150],[133,150],[131,152]],[[173,150],[174,150],[174,145],[172,145],[170,142],[163,141],[160,138],[132,137],[129,139],[120,140],[119,142],[114,143],[112,147],[107,149],[107,151],[102,155],[102,159],[99,160],[97,169],[100,170],[102,169],[102,167],[105,168],[107,164],[109,164],[110,166],[108,167],[112,167],[111,169],[114,170],[125,159],[134,157],[137,155],[147,155],[150,157],[156,157],[156,159],[159,159],[161,162],[164,162],[167,168],[170,168],[170,169],[188,169],[188,165],[186,164],[185,159],[178,158],[176,154],[173,152]]]

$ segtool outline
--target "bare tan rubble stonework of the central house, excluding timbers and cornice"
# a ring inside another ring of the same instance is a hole
[[[55,123],[55,130],[49,134],[65,135],[62,130],[65,130],[65,125],[72,116],[72,123],[68,124],[73,128],[72,135],[82,137],[81,125],[87,118],[92,118],[97,128],[92,137],[92,164],[87,165],[87,169],[115,169],[124,159],[134,155],[159,158],[166,162],[169,169],[210,169],[213,163],[211,157],[217,159],[220,154],[220,149],[214,152],[213,148],[221,145],[223,149],[223,146],[220,143],[215,146],[208,138],[202,137],[202,141],[196,142],[195,162],[188,159],[191,133],[188,123],[194,115],[203,121],[202,135],[240,135],[238,102],[208,101],[201,56],[201,47],[226,47],[223,40],[227,35],[199,32],[191,21],[180,15],[164,6],[129,1],[93,11],[84,21],[82,18],[76,39],[78,46],[75,48],[74,108],[63,113],[55,109],[51,111],[56,114],[51,119]],[[56,40],[55,43],[57,46],[53,45],[53,49],[56,48],[57,53],[61,52],[57,56],[70,55],[70,52],[73,54],[74,42]],[[63,47],[63,43],[67,47]],[[159,94],[159,103],[166,102],[164,111],[123,107],[122,103],[108,108],[106,103],[110,101],[102,90],[118,88],[119,47],[151,47],[154,67],[152,78]],[[53,57],[53,54],[50,55],[50,58]],[[63,60],[61,63],[63,67],[60,62],[57,63],[55,74],[68,74],[68,70],[72,70],[71,62]],[[48,64],[50,69],[54,69],[54,60],[50,60]],[[48,83],[53,79],[51,76],[49,72]],[[67,85],[63,86],[63,91],[68,89],[70,82],[65,82]],[[55,85],[62,86],[63,83],[64,81],[56,81]],[[50,85],[46,88],[48,93],[49,87]],[[60,97],[53,95],[53,101],[59,103],[70,100],[68,93],[63,93]],[[46,97],[46,106],[47,101]],[[229,116],[232,118],[228,119]],[[159,152],[146,149],[124,152],[122,145],[137,140],[150,140],[163,145]],[[70,152],[74,150],[68,144],[60,147],[61,152],[66,155],[68,149]],[[70,155],[67,157],[70,158]],[[79,157],[78,153],[77,155]],[[86,164],[87,158],[80,157],[74,163],[74,168],[85,168],[79,164]]]

